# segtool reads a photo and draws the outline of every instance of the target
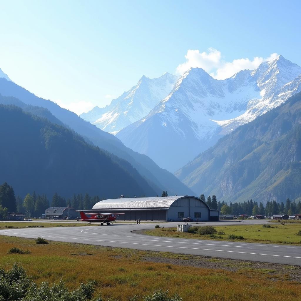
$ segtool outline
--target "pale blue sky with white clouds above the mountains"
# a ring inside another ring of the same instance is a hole
[[[0,68],[80,114],[142,75],[202,67],[217,79],[282,54],[301,66],[298,1],[4,1]]]

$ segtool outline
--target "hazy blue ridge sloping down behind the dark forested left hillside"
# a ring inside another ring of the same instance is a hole
[[[149,157],[132,151],[114,135],[98,129],[91,123],[81,119],[75,113],[59,107],[54,102],[39,98],[14,82],[10,82],[4,78],[0,78],[0,94],[13,96],[25,104],[48,109],[55,118],[81,135],[88,143],[93,143],[101,149],[127,160],[147,180],[149,185],[153,187],[156,195],[161,194],[163,190],[167,190],[171,195],[194,194],[191,189],[185,186],[172,173],[161,169]]]

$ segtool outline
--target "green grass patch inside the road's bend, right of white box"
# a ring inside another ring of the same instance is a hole
[[[229,240],[237,241],[237,239],[228,239],[230,234],[243,236],[244,241],[259,242],[268,244],[301,244],[301,236],[296,235],[301,230],[301,224],[271,224],[266,225],[234,225],[234,226],[215,226],[214,228],[220,232],[214,237],[209,235],[199,235],[193,233],[177,232],[177,228],[157,228],[145,230],[144,233],[155,236],[181,237],[193,239],[212,239],[212,240]],[[222,234],[224,233],[224,234]]]

